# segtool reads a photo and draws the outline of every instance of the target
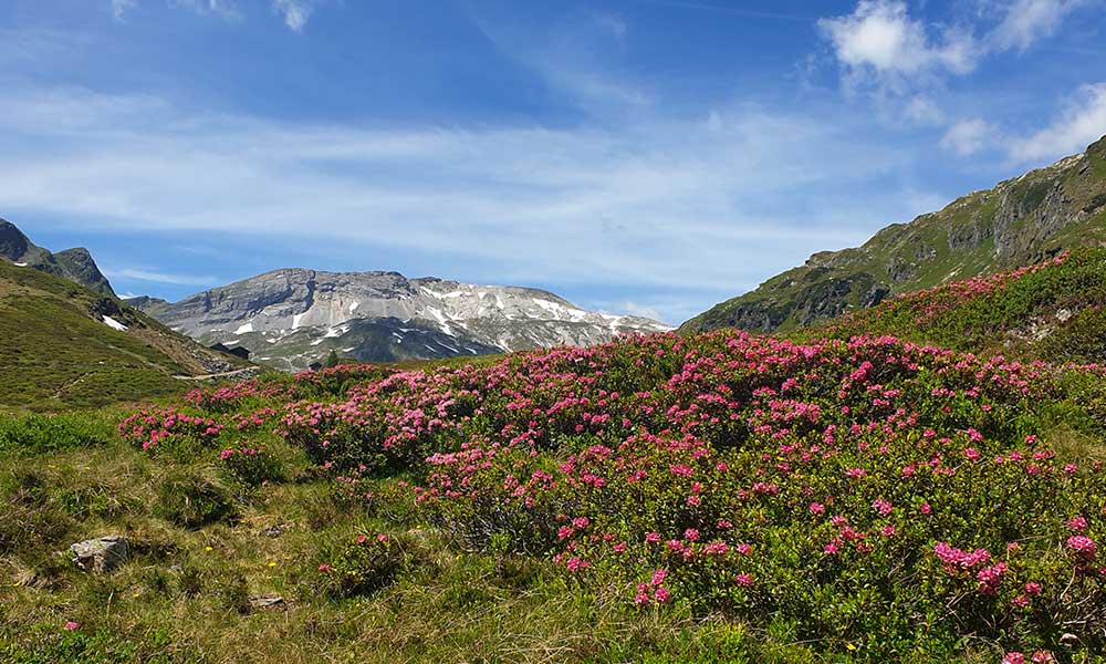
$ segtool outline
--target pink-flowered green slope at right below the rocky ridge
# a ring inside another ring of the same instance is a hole
[[[1106,364],[1106,249],[1075,249],[1033,266],[898,295],[791,334],[803,340],[857,335]]]

